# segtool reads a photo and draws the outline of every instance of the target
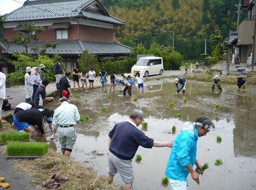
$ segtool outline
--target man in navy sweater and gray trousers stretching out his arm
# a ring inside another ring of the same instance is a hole
[[[172,147],[173,141],[158,142],[147,137],[137,127],[143,122],[143,112],[133,110],[126,122],[115,124],[109,132],[108,174],[107,180],[113,182],[114,175],[119,172],[126,185],[124,189],[133,189],[132,159],[139,146],[144,148]]]

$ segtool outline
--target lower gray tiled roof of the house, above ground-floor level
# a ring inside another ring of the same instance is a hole
[[[45,42],[31,42],[29,46],[42,47]],[[116,42],[86,42],[86,41],[60,41],[60,44],[55,48],[47,48],[46,54],[60,54],[60,55],[80,55],[88,50],[88,52],[95,55],[107,54],[129,54],[131,48],[121,45]],[[25,48],[15,43],[9,43],[5,53],[24,53]],[[36,54],[31,48],[28,48],[29,54]]]

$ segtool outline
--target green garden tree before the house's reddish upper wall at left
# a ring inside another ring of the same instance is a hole
[[[45,30],[43,27],[36,27],[34,23],[23,24],[22,28],[23,31],[18,31],[17,36],[13,37],[11,40],[13,43],[17,45],[22,45],[25,47],[25,53],[28,54],[28,48],[30,47],[34,52],[45,53],[46,48],[52,47],[56,48],[58,43],[56,42],[46,42],[45,45],[39,46],[32,46],[30,42],[40,40],[38,33],[43,32]]]

